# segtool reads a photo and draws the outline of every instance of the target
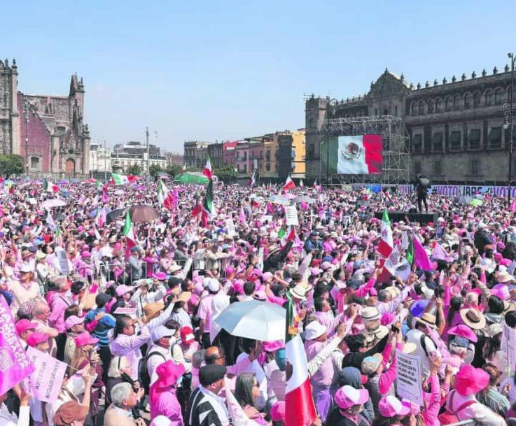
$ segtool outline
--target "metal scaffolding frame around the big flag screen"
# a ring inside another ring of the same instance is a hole
[[[371,183],[399,185],[410,181],[410,139],[403,120],[392,115],[333,118],[324,120],[319,143],[332,136],[381,134],[384,145],[382,173],[371,175],[330,175],[322,165],[319,146],[319,182],[325,185]]]

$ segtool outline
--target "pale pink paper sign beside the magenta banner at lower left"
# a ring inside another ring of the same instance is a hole
[[[34,364],[34,373],[29,376],[31,395],[43,402],[54,402],[59,396],[67,364],[32,346],[27,348],[27,355]]]

